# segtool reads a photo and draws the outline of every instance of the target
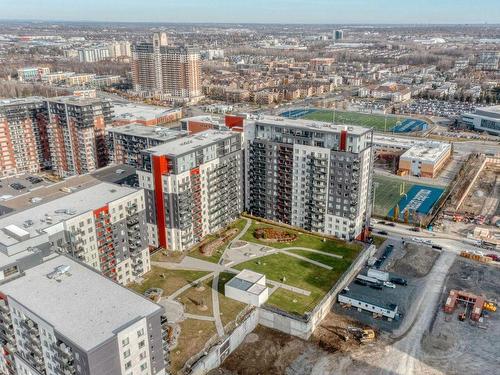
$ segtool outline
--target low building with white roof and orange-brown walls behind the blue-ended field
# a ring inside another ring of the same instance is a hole
[[[398,174],[434,178],[451,153],[449,143],[429,141],[415,145],[399,157]]]

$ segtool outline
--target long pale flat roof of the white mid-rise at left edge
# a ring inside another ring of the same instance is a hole
[[[15,211],[0,218],[0,243],[11,246],[27,238],[37,237],[62,221],[136,191],[133,188],[103,182],[39,206]]]

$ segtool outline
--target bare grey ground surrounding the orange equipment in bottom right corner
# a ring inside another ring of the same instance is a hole
[[[446,282],[441,305],[450,289],[466,290],[500,300],[500,269],[457,258]],[[500,311],[488,314],[483,323],[460,322],[458,306],[454,314],[441,309],[422,339],[425,362],[446,374],[498,374],[500,357]],[[481,327],[481,328],[480,328]]]

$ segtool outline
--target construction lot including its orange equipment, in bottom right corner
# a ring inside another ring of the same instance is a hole
[[[498,373],[498,301],[500,268],[457,257],[422,340],[427,364],[447,374]]]

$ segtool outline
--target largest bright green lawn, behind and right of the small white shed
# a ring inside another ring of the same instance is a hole
[[[298,253],[313,259],[310,252],[303,251],[302,253],[299,251]],[[268,300],[270,305],[292,314],[303,315],[306,311],[311,311],[314,308],[351,264],[351,260],[348,259],[335,259],[321,254],[315,254],[314,257],[320,262],[324,260],[325,264],[334,267],[334,269],[326,270],[285,254],[268,255],[238,264],[234,268],[238,270],[250,269],[265,274],[270,280],[310,291],[309,296],[303,296],[278,289]]]

